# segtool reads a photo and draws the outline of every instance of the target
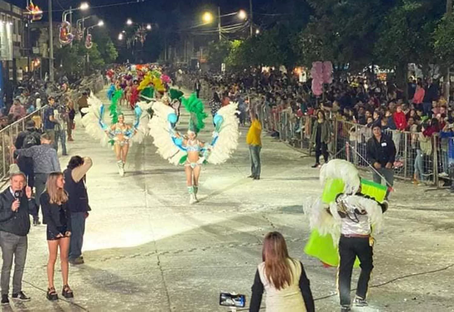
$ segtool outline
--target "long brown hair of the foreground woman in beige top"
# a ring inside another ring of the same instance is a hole
[[[291,283],[292,273],[288,263],[289,258],[284,236],[279,232],[266,234],[262,250],[265,276],[277,290]]]

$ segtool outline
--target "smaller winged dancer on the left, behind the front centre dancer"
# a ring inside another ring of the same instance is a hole
[[[142,143],[147,134],[148,114],[143,113],[147,109],[146,102],[139,102],[134,108],[135,121],[133,125],[127,124],[117,103],[123,91],[116,91],[112,104],[109,106],[112,123],[110,127],[104,123],[105,106],[95,96],[89,98],[90,109],[82,119],[85,131],[95,139],[99,139],[102,145],[110,144],[114,148],[117,158],[118,173],[124,175],[124,165],[128,157],[129,148],[133,142]]]

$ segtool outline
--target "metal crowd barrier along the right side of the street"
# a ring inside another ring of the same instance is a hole
[[[311,144],[316,118],[304,115],[297,118],[289,111],[276,111],[266,105],[258,109],[263,129],[311,155]],[[328,150],[332,158],[345,159],[357,167],[368,168],[370,160],[366,154],[366,144],[372,137],[371,127],[358,125],[345,120],[329,120],[331,124],[331,142]],[[396,161],[395,177],[438,186],[440,178],[449,180],[454,177],[453,164],[449,163],[449,146],[454,148],[454,138],[440,139],[439,134],[425,137],[421,132],[385,130],[395,142]],[[452,140],[449,145],[449,140]]]

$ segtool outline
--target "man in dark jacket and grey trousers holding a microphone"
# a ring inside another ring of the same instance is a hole
[[[31,187],[25,187],[25,175],[14,173],[10,187],[0,194],[0,247],[3,265],[1,269],[1,304],[9,304],[10,274],[14,258],[13,299],[29,301],[22,292],[22,275],[27,257],[27,234],[30,216],[38,213]]]

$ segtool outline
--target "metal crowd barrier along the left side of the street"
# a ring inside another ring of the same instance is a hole
[[[69,96],[73,100],[74,105],[77,106],[77,100],[82,94],[82,91],[90,88],[93,92],[99,92],[104,88],[103,77],[97,77],[94,81],[91,81],[84,86],[80,86],[78,90],[70,90]],[[17,135],[25,131],[25,124],[27,121],[32,120],[35,116],[39,116],[41,122],[43,120],[44,110],[46,106],[42,106],[39,109],[35,110],[30,115],[26,115],[24,118],[15,121],[14,123],[6,126],[0,130],[0,149],[1,149],[1,158],[0,158],[0,181],[5,181],[9,177],[10,173],[10,164],[14,162],[13,157],[10,153],[11,146],[14,145]],[[77,110],[76,110],[77,111]],[[36,117],[35,117],[36,118]]]

